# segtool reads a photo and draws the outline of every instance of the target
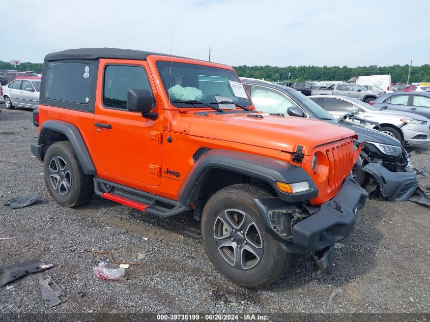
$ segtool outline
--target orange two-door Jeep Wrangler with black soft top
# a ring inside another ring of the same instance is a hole
[[[293,253],[330,271],[333,244],[354,229],[365,191],[351,177],[349,129],[255,112],[236,72],[183,57],[113,48],[46,55],[39,139],[52,198],[102,197],[150,215],[192,210],[214,266],[267,285]]]

